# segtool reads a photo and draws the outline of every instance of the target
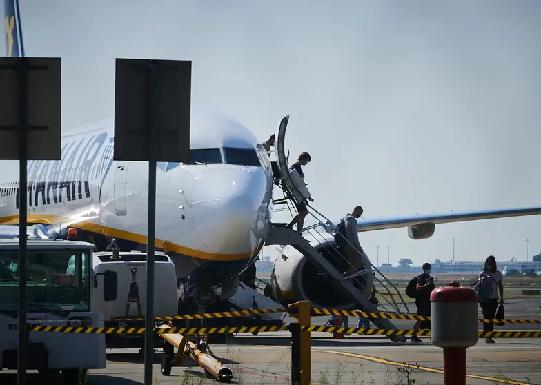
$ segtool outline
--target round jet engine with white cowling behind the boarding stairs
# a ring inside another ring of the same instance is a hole
[[[340,255],[340,251],[337,250],[332,236],[329,236],[328,239],[322,239],[319,244],[315,239],[309,240],[311,245],[330,261],[338,271],[343,272],[348,268],[348,264]],[[364,256],[365,265],[368,264],[371,267],[370,259],[366,254]],[[369,287],[366,290],[366,297],[372,291],[373,276],[368,275],[367,279],[367,286]],[[357,308],[337,288],[331,275],[319,270],[315,264],[293,246],[282,248],[282,254],[276,258],[270,286],[273,299],[284,307],[293,302],[308,300],[312,306],[317,308],[340,308],[342,310]]]

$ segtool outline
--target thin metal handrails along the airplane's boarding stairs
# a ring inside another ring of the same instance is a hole
[[[281,179],[278,179],[278,186],[282,192],[282,198],[279,199],[273,199],[274,204],[282,205],[282,208],[278,209],[277,211],[286,211],[291,215],[291,218],[295,217],[298,213],[295,209],[294,205],[291,205],[290,202],[293,200],[293,197],[291,197],[291,194],[288,192],[288,189],[284,184],[282,184]],[[325,217],[322,213],[320,213],[318,210],[313,208],[313,206],[310,206],[308,203],[306,203],[306,206],[308,208],[308,215],[315,219],[316,223],[305,226],[303,228],[303,231],[305,234],[309,235],[312,239],[314,239],[317,242],[321,242],[324,240],[324,233],[333,235],[333,232],[336,230],[336,226],[333,224],[333,222]],[[308,216],[307,216],[308,217]],[[306,219],[305,219],[306,220]],[[353,246],[348,239],[345,239],[347,244],[350,246]],[[342,253],[342,250],[340,248],[337,248],[335,246],[331,246],[333,248],[333,252],[335,255],[338,255],[344,263],[347,266],[350,266],[355,270],[355,273],[351,277],[355,279],[355,277],[362,275],[364,272],[363,270],[357,270],[356,268],[351,265],[350,261]],[[356,253],[361,253],[356,249]],[[404,297],[402,297],[402,293],[400,293],[400,290],[393,284],[389,279],[375,266],[372,261],[370,262],[370,272],[367,272],[368,274],[373,275],[373,293],[375,297],[377,297],[378,302],[380,304],[380,307],[383,308],[386,312],[395,311],[397,313],[409,313],[409,308],[406,302],[404,301]],[[362,282],[360,282],[362,283]],[[399,301],[397,302],[395,298],[398,298]]]

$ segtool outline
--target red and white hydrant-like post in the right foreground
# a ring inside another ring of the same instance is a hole
[[[443,348],[445,385],[466,384],[466,348],[478,342],[478,297],[453,281],[430,295],[432,343]]]

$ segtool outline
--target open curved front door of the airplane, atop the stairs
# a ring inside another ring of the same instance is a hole
[[[284,185],[288,188],[293,199],[297,203],[301,203],[305,199],[311,198],[311,194],[300,175],[297,172],[290,173],[289,171],[288,159],[286,157],[286,130],[288,122],[289,115],[286,115],[280,121],[278,135],[276,135],[276,159]]]

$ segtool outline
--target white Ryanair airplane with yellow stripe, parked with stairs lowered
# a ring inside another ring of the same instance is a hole
[[[6,56],[24,57],[19,1],[4,0],[4,12]],[[171,257],[177,277],[192,290],[179,303],[179,314],[228,310],[239,273],[255,263],[272,226],[275,189],[270,158],[246,126],[194,107],[190,120],[190,163],[159,163],[156,180],[155,247]],[[28,222],[50,237],[66,238],[68,228],[76,228],[98,250],[114,240],[121,250],[144,251],[148,164],[113,161],[114,139],[114,121],[100,120],[63,133],[61,161],[30,161]],[[17,166],[2,166],[0,224],[18,223],[18,178]],[[426,239],[435,224],[539,214],[541,207],[357,222],[359,231],[407,227],[412,239]],[[314,231],[303,236],[317,250],[336,246],[330,233],[314,241]],[[353,306],[342,306],[343,296],[328,282],[319,282],[317,290],[318,275],[309,266],[302,253],[282,248],[273,267],[280,304],[308,299],[344,310]],[[216,286],[222,288],[219,297]]]

